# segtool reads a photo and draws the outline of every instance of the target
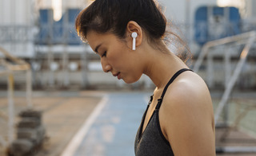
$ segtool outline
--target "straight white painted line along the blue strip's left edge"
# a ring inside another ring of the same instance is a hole
[[[66,146],[66,149],[62,152],[61,156],[74,155],[75,151],[78,149],[78,146],[81,144],[82,139],[85,138],[86,134],[90,130],[91,125],[94,123],[95,119],[98,117],[107,101],[108,97],[104,96],[98,103],[97,107],[94,108],[94,111],[90,114],[88,119],[86,119],[85,123],[83,123],[78,133],[71,139],[70,143]]]

